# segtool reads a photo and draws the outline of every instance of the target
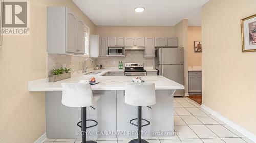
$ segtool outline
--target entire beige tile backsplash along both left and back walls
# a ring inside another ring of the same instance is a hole
[[[108,58],[92,58],[94,64],[90,60],[87,61],[88,68],[93,68],[96,65],[103,65],[103,67],[117,67],[118,62],[124,63],[144,63],[144,67],[154,67],[154,58],[144,58],[144,51],[125,51],[125,57],[108,57]],[[62,54],[48,54],[47,70],[48,75],[50,71],[56,68],[67,67],[71,68],[72,72],[82,70],[82,64],[86,60],[82,56],[62,55]]]

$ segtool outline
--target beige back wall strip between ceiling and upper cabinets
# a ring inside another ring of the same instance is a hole
[[[174,36],[173,26],[96,26],[96,34],[104,37]]]

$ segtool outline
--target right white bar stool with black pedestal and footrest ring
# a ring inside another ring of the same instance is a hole
[[[146,143],[146,140],[141,139],[141,129],[144,126],[150,125],[150,121],[142,118],[142,106],[156,104],[155,83],[128,82],[124,102],[138,108],[138,118],[130,120],[130,123],[138,128],[138,138],[129,141],[129,143]],[[134,120],[137,120],[137,125],[132,123]],[[142,125],[142,120],[147,123]]]

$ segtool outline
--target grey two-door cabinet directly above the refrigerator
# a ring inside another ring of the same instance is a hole
[[[178,37],[155,37],[155,47],[178,47]]]

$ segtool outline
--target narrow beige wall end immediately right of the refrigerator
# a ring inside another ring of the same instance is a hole
[[[184,48],[185,93],[188,92],[188,20],[181,20],[175,25],[175,36],[179,37],[179,47]]]

